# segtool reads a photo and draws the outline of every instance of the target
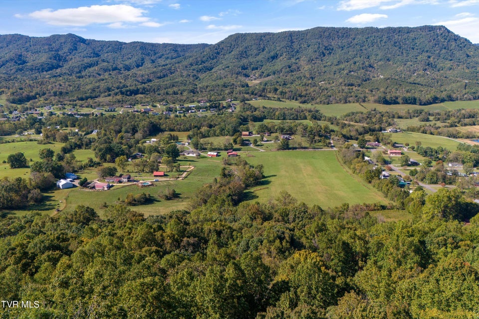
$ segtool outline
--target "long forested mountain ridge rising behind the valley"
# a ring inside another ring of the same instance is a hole
[[[479,47],[444,26],[238,33],[216,44],[0,35],[9,103],[180,103],[272,96],[428,105],[479,99]],[[145,101],[146,100],[146,101]]]

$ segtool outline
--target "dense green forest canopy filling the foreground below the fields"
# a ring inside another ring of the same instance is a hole
[[[242,168],[241,168],[242,167]],[[237,173],[239,172],[239,173]],[[111,205],[0,219],[2,318],[476,318],[478,220],[458,189],[322,209],[280,192],[241,203],[261,167],[229,163],[190,211]]]

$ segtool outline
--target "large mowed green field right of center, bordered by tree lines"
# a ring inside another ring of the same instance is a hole
[[[371,185],[356,179],[339,164],[335,151],[255,152],[250,164],[263,164],[264,185],[252,188],[250,201],[267,202],[281,190],[308,205],[334,207],[388,202]]]

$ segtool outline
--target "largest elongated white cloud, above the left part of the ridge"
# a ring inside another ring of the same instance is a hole
[[[121,23],[148,22],[149,17],[143,16],[146,11],[125,4],[80,6],[67,9],[42,9],[28,13],[33,19],[44,21],[51,25],[85,26],[89,24],[120,25]],[[24,17],[15,15],[16,17]]]

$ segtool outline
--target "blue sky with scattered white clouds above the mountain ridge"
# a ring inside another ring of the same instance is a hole
[[[217,43],[238,32],[441,24],[479,43],[479,0],[0,0],[0,34]]]

